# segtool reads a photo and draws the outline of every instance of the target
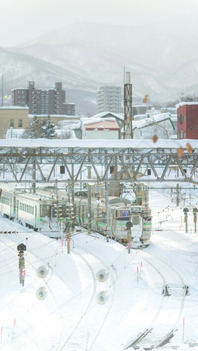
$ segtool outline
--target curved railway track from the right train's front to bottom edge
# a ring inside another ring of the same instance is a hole
[[[158,258],[153,254],[146,253],[145,251],[141,252],[141,256],[161,276],[163,281],[163,299],[157,313],[148,324],[148,327],[140,335],[138,335],[137,338],[125,348],[125,350],[129,349],[130,347],[133,347],[135,350],[138,350],[140,348],[143,348],[145,350],[154,350],[155,348],[168,343],[168,341],[173,337],[177,322],[181,317],[184,300],[187,293],[187,286],[185,285],[180,273],[176,271],[170,264],[166,263],[163,259]],[[146,257],[149,257],[149,259]],[[162,274],[161,271],[156,267],[157,263],[151,263],[151,258],[157,260],[158,262],[161,262],[163,266],[166,266],[166,275],[174,275],[176,280],[175,284],[167,283],[170,281],[170,278],[168,276],[166,278],[164,277],[164,273]],[[173,273],[170,275],[171,271]],[[167,323],[167,325],[164,324],[162,327],[160,316],[162,313],[164,314],[168,308],[170,308],[172,303],[174,303],[175,306],[176,301],[178,303],[178,300],[180,300],[178,305],[179,312],[171,316],[171,319],[173,319],[172,328],[170,329],[169,323]],[[163,336],[161,336],[162,333]]]

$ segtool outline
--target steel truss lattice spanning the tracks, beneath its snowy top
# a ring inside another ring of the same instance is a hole
[[[18,140],[17,140],[18,141]],[[48,140],[49,141],[49,140]],[[82,141],[82,140],[81,140]],[[51,140],[55,145],[55,140]],[[105,140],[104,140],[105,142]],[[118,140],[119,142],[119,140]],[[57,142],[58,144],[58,142]],[[54,182],[55,166],[63,165],[65,175],[58,182],[80,183],[87,182],[86,167],[92,169],[92,179],[89,182],[143,182],[150,181],[188,181],[197,183],[198,149],[193,153],[184,152],[178,157],[176,148],[151,147],[22,147],[0,146],[0,170],[2,167],[13,175],[13,179],[5,177],[0,182]],[[72,165],[75,166],[72,170]],[[109,170],[113,166],[113,175]],[[48,171],[46,168],[48,167]],[[19,172],[19,168],[21,171]],[[101,168],[103,169],[101,174]],[[34,169],[35,172],[30,172]],[[147,176],[150,169],[151,176]],[[177,176],[170,176],[170,170],[177,170]],[[35,176],[35,175],[36,176]],[[140,177],[142,176],[142,177]]]

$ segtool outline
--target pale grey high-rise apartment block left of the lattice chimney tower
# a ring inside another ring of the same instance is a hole
[[[97,90],[97,113],[121,112],[121,87],[100,87]]]

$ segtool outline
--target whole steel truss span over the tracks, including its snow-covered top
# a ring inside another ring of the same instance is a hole
[[[0,182],[54,182],[60,166],[57,182],[197,184],[198,140],[0,140]]]

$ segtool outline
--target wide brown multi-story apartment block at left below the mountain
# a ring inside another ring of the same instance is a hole
[[[28,106],[30,114],[65,114],[64,103],[65,90],[60,82],[55,83],[54,89],[37,89],[34,82],[29,82],[28,88],[12,89],[12,106]]]

